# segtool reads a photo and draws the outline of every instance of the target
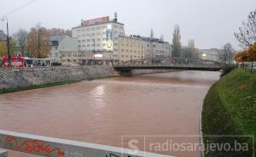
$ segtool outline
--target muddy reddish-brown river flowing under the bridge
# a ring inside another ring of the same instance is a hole
[[[199,142],[200,109],[219,72],[177,71],[0,95],[0,129],[125,147],[130,139]],[[181,136],[182,135],[182,136]],[[143,149],[143,143],[138,144]],[[199,157],[200,151],[147,151]],[[27,157],[11,152],[9,156]]]

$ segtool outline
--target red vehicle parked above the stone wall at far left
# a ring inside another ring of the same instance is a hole
[[[8,57],[3,57],[3,68],[22,68],[25,64],[25,58],[20,56],[10,57],[10,66],[9,66],[9,59]]]

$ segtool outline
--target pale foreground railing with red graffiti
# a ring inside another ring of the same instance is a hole
[[[82,143],[1,130],[0,148],[47,157],[171,157],[95,143]],[[7,157],[6,151],[0,150],[0,157]]]

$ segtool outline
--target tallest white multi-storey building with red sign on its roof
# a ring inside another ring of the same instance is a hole
[[[103,53],[112,53],[118,59],[118,36],[124,36],[124,24],[119,23],[117,14],[113,20],[109,16],[95,20],[82,20],[81,25],[73,27],[72,36],[78,39],[79,50],[96,53],[96,58],[103,58]]]

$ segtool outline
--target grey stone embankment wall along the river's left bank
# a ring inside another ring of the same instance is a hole
[[[134,70],[132,73],[139,75],[158,72],[166,72],[166,70]],[[0,68],[0,90],[111,76],[119,76],[119,74],[110,65],[52,66],[20,69]]]

